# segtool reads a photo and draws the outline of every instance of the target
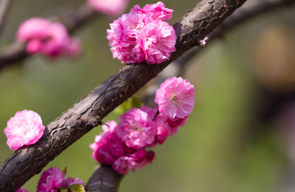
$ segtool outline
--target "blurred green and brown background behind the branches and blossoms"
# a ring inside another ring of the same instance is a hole
[[[14,41],[26,19],[65,14],[84,2],[14,1],[0,39],[2,47]],[[156,2],[130,1],[128,10]],[[170,25],[196,3],[163,2],[174,10]],[[84,43],[79,58],[35,55],[1,70],[0,129],[24,109],[37,112],[47,125],[120,69],[123,65],[112,58],[105,38],[113,19],[100,16],[73,34]],[[182,72],[195,86],[196,96],[187,125],[154,147],[154,162],[125,176],[119,192],[295,191],[294,27],[294,8],[262,14],[192,57]],[[118,122],[118,117],[112,112],[104,121]],[[13,153],[1,132],[0,163]],[[90,157],[89,144],[99,132],[100,126],[93,128],[43,170],[67,167],[67,176],[87,183],[97,164]],[[35,175],[24,188],[35,191],[39,177]]]

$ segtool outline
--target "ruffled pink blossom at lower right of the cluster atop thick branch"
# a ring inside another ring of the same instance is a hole
[[[159,64],[166,61],[174,52],[176,35],[173,27],[160,19],[141,28],[142,49],[148,64]]]

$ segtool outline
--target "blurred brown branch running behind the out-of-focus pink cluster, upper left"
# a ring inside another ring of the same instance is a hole
[[[11,0],[1,0],[1,1],[11,1]],[[86,2],[80,6],[77,10],[73,11],[66,17],[56,16],[57,20],[60,20],[65,27],[68,29],[69,33],[73,33],[75,30],[79,29],[81,26],[88,23],[90,20],[98,16],[96,10],[92,9]],[[0,21],[1,24],[1,21]],[[1,26],[1,25],[0,25]],[[1,28],[0,28],[1,32]],[[22,61],[29,55],[26,53],[25,43],[15,41],[11,45],[0,51],[0,69],[8,67],[13,63]]]

